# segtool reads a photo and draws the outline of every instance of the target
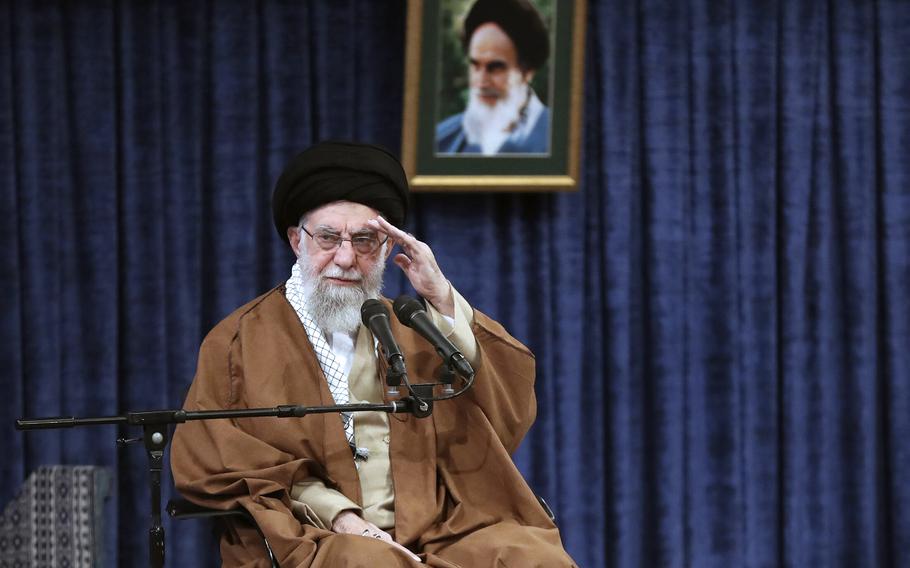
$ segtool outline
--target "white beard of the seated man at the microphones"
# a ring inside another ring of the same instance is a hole
[[[332,263],[317,273],[310,264],[309,255],[302,254],[297,258],[307,310],[327,337],[335,332],[356,332],[360,326],[360,306],[370,298],[379,298],[387,246],[388,243],[383,243],[377,253],[383,260],[376,262],[373,269],[363,275],[356,268],[342,270]],[[326,281],[330,277],[360,282],[357,286],[339,286]]]

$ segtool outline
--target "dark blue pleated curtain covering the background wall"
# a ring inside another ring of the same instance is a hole
[[[888,566],[910,550],[910,4],[591,2],[583,180],[419,195],[408,230],[538,356],[516,455],[581,566]],[[284,161],[400,147],[402,1],[0,2],[0,502],[141,447],[23,416],[173,408],[284,279]],[[406,291],[392,267],[387,295]],[[169,566],[214,566],[203,523]]]

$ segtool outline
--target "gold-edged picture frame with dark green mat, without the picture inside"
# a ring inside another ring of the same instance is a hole
[[[444,69],[462,65],[453,55],[453,30],[460,29],[465,8],[476,0],[409,0],[402,124],[402,163],[412,191],[573,191],[578,187],[583,104],[585,0],[529,0],[545,4],[542,12],[550,38],[550,57],[541,100],[549,112],[547,151],[495,155],[442,151],[437,134],[444,108],[453,108],[441,92],[461,88],[467,79],[442,80]],[[460,13],[454,13],[456,10]],[[446,44],[446,42],[448,42]],[[459,44],[460,45],[460,44]],[[460,59],[457,59],[460,58]],[[459,63],[453,63],[458,61]],[[448,65],[448,67],[446,67]],[[543,68],[543,66],[542,66]],[[448,75],[446,76],[448,77]],[[453,88],[449,83],[460,80]],[[443,87],[448,88],[445,91]],[[535,90],[537,87],[535,87]],[[544,92],[546,90],[546,92]],[[548,103],[548,104],[547,104]]]

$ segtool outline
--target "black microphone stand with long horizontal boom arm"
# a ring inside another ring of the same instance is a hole
[[[244,408],[239,410],[143,410],[127,412],[116,416],[75,418],[60,416],[52,418],[22,418],[16,420],[17,430],[49,430],[73,428],[76,426],[98,426],[103,424],[127,424],[142,426],[142,438],[117,438],[117,445],[142,441],[149,458],[149,489],[151,491],[151,519],[149,528],[149,565],[164,567],[164,527],[161,526],[161,469],[164,464],[164,449],[168,443],[168,427],[189,420],[219,420],[224,418],[255,418],[274,416],[277,418],[300,418],[308,414],[331,412],[387,412],[389,414],[409,413],[417,418],[426,418],[433,412],[433,387],[435,383],[409,385],[411,396],[388,403],[335,404],[330,406],[281,405],[272,408]]]

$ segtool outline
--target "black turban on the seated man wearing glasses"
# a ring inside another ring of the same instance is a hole
[[[408,179],[388,151],[358,142],[320,142],[294,156],[272,194],[275,228],[285,241],[300,217],[333,201],[376,209],[401,227],[408,212]]]

